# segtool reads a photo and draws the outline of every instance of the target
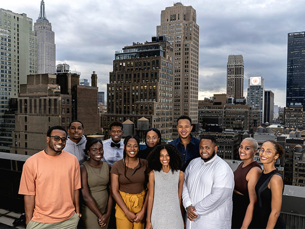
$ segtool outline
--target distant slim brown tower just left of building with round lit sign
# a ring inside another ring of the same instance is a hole
[[[242,55],[229,55],[227,63],[227,95],[243,99],[243,58]]]

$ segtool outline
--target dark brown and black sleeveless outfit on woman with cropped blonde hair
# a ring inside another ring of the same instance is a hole
[[[246,176],[253,167],[259,167],[261,169],[261,166],[256,161],[251,162],[245,167],[242,167],[242,165],[243,162],[241,162],[234,171],[234,189],[243,195],[233,192],[232,228],[241,227],[248,205],[250,204],[248,181],[246,180]]]

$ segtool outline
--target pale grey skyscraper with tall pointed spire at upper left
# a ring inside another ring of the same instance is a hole
[[[38,74],[55,73],[55,41],[52,25],[45,13],[43,0],[40,3],[40,14],[34,24],[34,34],[37,36]]]

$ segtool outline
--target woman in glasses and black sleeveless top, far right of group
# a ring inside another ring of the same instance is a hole
[[[264,170],[255,186],[257,202],[251,228],[285,228],[285,222],[280,216],[284,181],[275,166],[276,160],[283,154],[282,146],[275,140],[264,141],[259,150]]]

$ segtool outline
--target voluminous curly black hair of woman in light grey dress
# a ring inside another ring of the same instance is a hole
[[[165,149],[169,154],[169,166],[174,173],[174,170],[179,170],[181,168],[183,161],[177,148],[170,144],[156,146],[154,150],[148,154],[148,167],[156,171],[161,171],[162,164],[160,162],[160,152],[163,149]]]

